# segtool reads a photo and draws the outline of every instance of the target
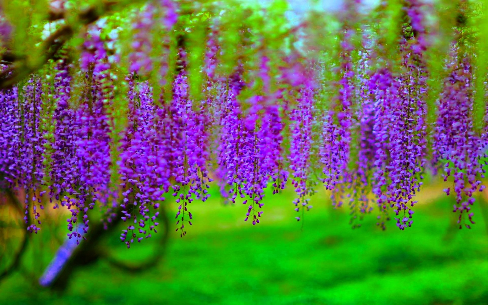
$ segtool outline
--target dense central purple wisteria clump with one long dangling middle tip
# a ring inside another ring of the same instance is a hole
[[[263,211],[264,189],[273,182],[273,194],[284,189],[287,172],[284,169],[283,136],[280,100],[281,91],[271,93],[268,59],[260,59],[259,76],[263,81],[263,95],[254,95],[245,101],[247,109],[238,100],[242,88],[239,72],[220,86],[219,98],[224,100],[218,109],[222,125],[219,146],[218,173],[222,193],[235,203],[237,196],[247,205],[244,221],[259,224]]]

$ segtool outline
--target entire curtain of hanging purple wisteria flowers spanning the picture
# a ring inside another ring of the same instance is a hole
[[[353,227],[375,213],[381,228],[394,218],[404,230],[424,177],[439,173],[460,227],[469,228],[488,140],[488,127],[473,122],[486,113],[486,103],[475,103],[474,44],[462,24],[452,26],[435,95],[428,4],[404,2],[394,59],[385,37],[349,24],[359,15],[354,3],[333,52],[318,57],[304,54],[314,43],[306,22],[289,31],[272,25],[272,34],[243,22],[229,33],[224,12],[188,21],[170,0],[131,12],[130,44],[118,19],[86,24],[78,58],[61,48],[43,73],[0,91],[0,186],[25,194],[30,232],[49,202],[69,210],[68,236],[78,243],[100,207],[106,226],[126,223],[120,239],[130,247],[157,232],[171,197],[183,237],[192,203],[207,201],[214,180],[253,225],[264,219],[266,189],[275,195],[291,184],[297,221],[323,186],[333,206],[350,208]],[[286,31],[297,43],[276,34]],[[1,18],[2,45],[10,32]],[[8,62],[1,69],[15,76]]]

